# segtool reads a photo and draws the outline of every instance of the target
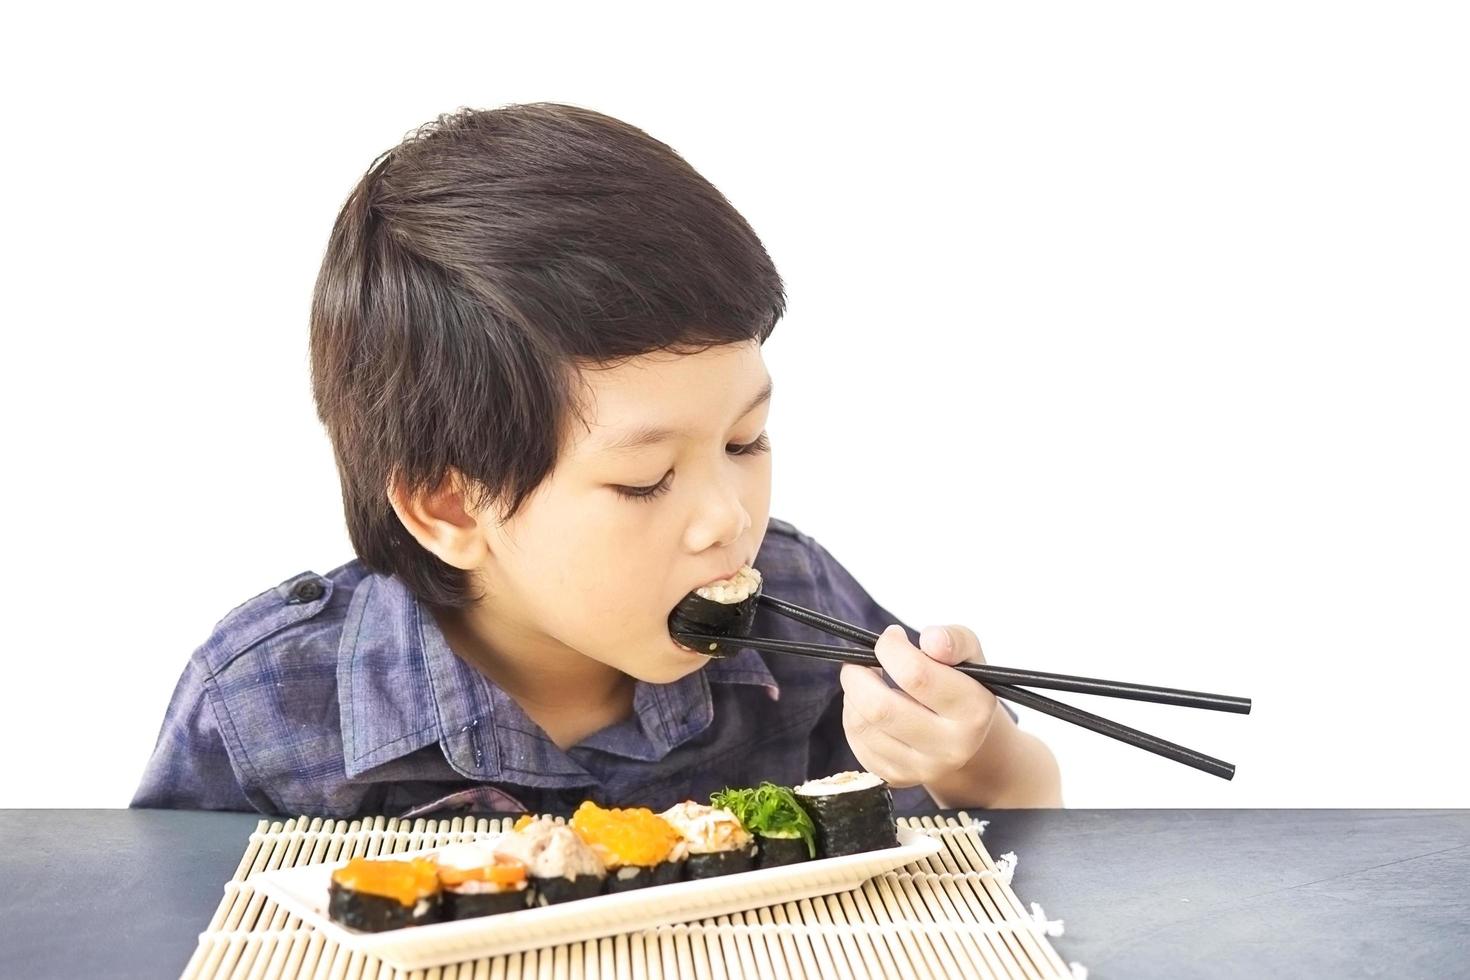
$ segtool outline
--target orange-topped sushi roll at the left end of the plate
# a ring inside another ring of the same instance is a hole
[[[440,920],[440,876],[434,861],[353,858],[332,871],[326,915],[368,933]]]

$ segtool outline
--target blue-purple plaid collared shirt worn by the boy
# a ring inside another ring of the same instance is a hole
[[[816,541],[772,519],[764,591],[850,623],[901,623]],[[906,624],[907,629],[907,624]],[[914,630],[908,630],[910,636]],[[753,635],[835,642],[761,608]],[[861,768],[842,732],[839,664],[744,649],[560,749],[460,660],[394,576],[350,561],[234,608],[184,667],[134,807],[281,815],[663,810],[725,786]],[[901,811],[929,808],[922,786]]]

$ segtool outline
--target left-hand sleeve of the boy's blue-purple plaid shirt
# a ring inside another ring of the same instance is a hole
[[[235,776],[204,669],[190,660],[131,807],[257,811]]]

